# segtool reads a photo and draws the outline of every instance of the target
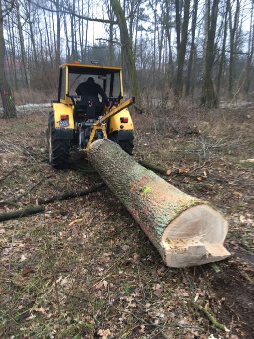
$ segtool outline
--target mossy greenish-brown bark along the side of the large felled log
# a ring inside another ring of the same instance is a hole
[[[111,141],[93,142],[89,156],[102,179],[132,214],[165,261],[168,234],[174,233],[173,238],[179,239],[177,232],[173,230],[172,233],[170,230],[172,221],[183,211],[196,205],[204,206],[206,202],[183,193],[151,170],[145,169]],[[212,210],[209,206],[207,208]],[[193,226],[192,229],[196,228]],[[184,237],[184,226],[181,226],[180,232],[181,237]],[[188,239],[199,236],[189,233],[186,230]],[[219,242],[223,240],[219,238]]]

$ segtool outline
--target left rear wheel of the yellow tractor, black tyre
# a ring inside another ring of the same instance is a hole
[[[66,165],[70,155],[70,140],[56,139],[54,113],[51,111],[48,117],[47,142],[49,163],[55,168]]]

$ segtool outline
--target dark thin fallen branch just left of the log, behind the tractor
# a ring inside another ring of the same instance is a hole
[[[45,205],[45,204],[48,204],[54,201],[82,197],[92,192],[101,191],[105,188],[106,188],[106,185],[103,183],[101,185],[93,186],[91,188],[83,189],[81,191],[65,191],[62,194],[53,195],[52,197],[49,197],[47,199],[38,198],[37,203],[38,205]]]

